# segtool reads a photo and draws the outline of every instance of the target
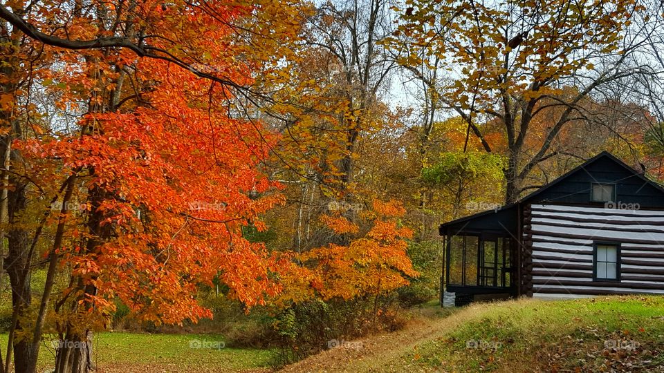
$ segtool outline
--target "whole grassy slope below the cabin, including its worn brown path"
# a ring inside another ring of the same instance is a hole
[[[353,341],[287,372],[664,372],[664,298],[511,300]]]

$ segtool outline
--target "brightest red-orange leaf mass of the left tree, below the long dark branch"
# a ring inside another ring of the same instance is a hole
[[[249,122],[192,102],[208,83],[166,63],[142,69],[163,82],[149,95],[150,107],[89,115],[84,120],[100,128],[93,135],[21,144],[31,156],[59,160],[70,173],[93,169],[90,178],[82,176],[84,187],[113,196],[99,209],[116,237],[91,253],[67,247],[63,263],[94,283],[95,305],[108,306],[118,296],[155,321],[209,316],[192,295],[217,274],[247,305],[276,294],[268,279],[274,260],[264,245],[241,235],[249,222],[262,229],[258,215],[281,200],[250,196],[275,187],[256,168],[267,146]]]

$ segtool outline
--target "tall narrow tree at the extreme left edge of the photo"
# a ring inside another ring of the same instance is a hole
[[[21,11],[21,5],[15,4],[15,10]],[[23,135],[22,122],[30,115],[32,104],[26,99],[26,91],[30,88],[30,73],[34,68],[48,59],[41,55],[37,61],[39,50],[35,50],[29,42],[24,40],[23,34],[11,29],[6,22],[0,25],[0,157],[2,158],[2,192],[0,199],[0,255],[2,271],[7,271],[12,290],[12,327],[13,331],[24,329],[29,324],[19,315],[26,314],[32,302],[30,294],[30,267],[28,261],[28,233],[21,224],[17,223],[18,216],[26,207],[26,180],[21,178],[21,155],[12,149],[14,140]],[[43,51],[42,51],[43,52]],[[18,172],[14,168],[19,169]],[[7,242],[8,247],[5,247]],[[6,256],[5,256],[6,255]],[[6,258],[6,259],[5,259]],[[2,275],[0,275],[1,277]],[[21,372],[27,366],[32,348],[28,341],[19,341],[14,349],[8,344],[7,365],[2,364],[0,358],[0,371],[8,370],[10,359],[17,362],[17,371]]]

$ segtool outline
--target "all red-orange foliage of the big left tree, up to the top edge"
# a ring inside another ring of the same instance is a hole
[[[105,6],[113,8],[113,3]],[[273,277],[284,263],[242,233],[248,225],[264,230],[260,214],[283,202],[274,193],[278,185],[259,166],[275,138],[261,133],[259,122],[233,115],[237,109],[230,108],[230,86],[201,79],[192,70],[239,86],[251,84],[257,70],[267,76],[275,66],[264,63],[279,57],[275,50],[282,46],[269,44],[277,43],[275,35],[296,31],[288,17],[263,22],[257,27],[274,32],[263,40],[268,44],[243,54],[255,45],[243,44],[234,27],[245,22],[243,17],[276,17],[284,7],[269,1],[206,7],[148,1],[132,10],[136,27],[153,35],[151,48],[200,61],[189,69],[137,58],[128,50],[46,48],[57,50],[59,66],[35,73],[49,92],[57,93],[59,108],[88,104],[77,123],[80,131],[36,131],[38,137],[15,146],[30,164],[39,165],[31,172],[42,180],[42,191],[55,193],[46,195],[48,200],[61,200],[58,186],[74,178],[75,198],[88,201],[80,204],[82,211],[66,214],[65,245],[57,254],[75,278],[61,295],[80,298],[90,311],[109,312],[120,298],[146,320],[195,321],[211,316],[196,303],[198,286],[212,285],[217,276],[230,296],[248,307],[279,291]],[[45,5],[47,20],[57,18],[47,10]],[[54,35],[65,36],[61,31]],[[108,35],[80,17],[68,23],[66,37]],[[120,93],[125,104],[109,111],[123,68],[131,72],[124,77],[126,92]],[[93,193],[98,195],[91,198]],[[94,213],[102,213],[100,226],[111,227],[110,236],[102,237],[87,224]],[[89,240],[100,244],[90,250]],[[82,284],[93,285],[94,294],[84,293]]]

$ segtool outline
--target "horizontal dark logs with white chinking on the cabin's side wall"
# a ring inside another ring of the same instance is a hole
[[[664,294],[664,211],[532,204],[533,296]],[[593,281],[593,242],[620,243],[620,281]]]

